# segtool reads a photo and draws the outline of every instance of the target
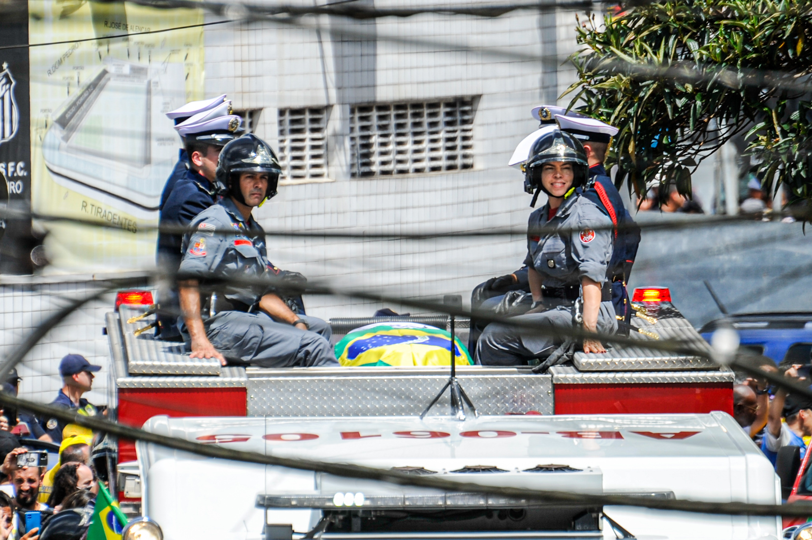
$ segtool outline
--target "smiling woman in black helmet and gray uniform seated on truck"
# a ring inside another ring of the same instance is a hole
[[[592,201],[581,197],[587,180],[584,147],[559,129],[545,130],[530,148],[525,163],[525,188],[546,193],[548,202],[530,214],[528,254],[533,309],[520,320],[533,322],[543,335],[496,323],[477,343],[483,365],[523,365],[529,358],[549,356],[570,330],[583,321],[584,330],[609,333],[617,328],[607,265],[612,253],[612,222]],[[583,340],[584,352],[606,352],[597,339]]]

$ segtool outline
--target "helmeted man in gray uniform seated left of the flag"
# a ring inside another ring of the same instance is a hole
[[[226,192],[192,220],[179,268],[181,331],[188,335],[192,358],[262,367],[338,365],[330,327],[293,312],[283,292],[261,283],[270,276],[304,281],[268,261],[265,231],[251,216],[254,207],[276,195],[280,172],[273,150],[257,136],[242,136],[222,149],[217,179]]]

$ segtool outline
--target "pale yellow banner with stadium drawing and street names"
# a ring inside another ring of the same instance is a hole
[[[163,185],[179,137],[166,111],[202,99],[199,10],[31,0],[31,202],[39,214],[106,226],[44,222],[62,271],[154,266]],[[40,45],[52,42],[54,45]]]

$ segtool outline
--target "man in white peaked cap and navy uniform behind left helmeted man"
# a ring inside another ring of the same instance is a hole
[[[160,227],[175,229],[186,227],[197,214],[214,205],[217,201],[214,180],[218,155],[227,142],[235,139],[235,132],[240,128],[241,119],[231,114],[229,101],[220,99],[214,106],[210,102],[205,102],[201,107],[191,105],[195,105],[195,102],[179,110],[183,110],[183,114],[192,113],[200,108],[203,110],[175,125],[175,130],[186,145],[188,168],[184,168],[183,174],[175,178],[175,184],[162,205]],[[179,110],[167,116],[179,114]],[[183,117],[175,119],[179,118]],[[167,180],[167,187],[172,179],[173,177]],[[180,251],[182,240],[183,235],[180,232],[166,230],[158,232],[158,267],[167,274],[178,270],[182,257]],[[179,309],[177,292],[171,288],[162,288],[159,302],[161,313],[158,314],[158,327],[161,339],[178,339],[179,334],[175,325]]]

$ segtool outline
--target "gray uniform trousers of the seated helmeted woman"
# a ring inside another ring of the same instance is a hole
[[[501,325],[493,322],[486,326],[477,343],[477,361],[482,365],[527,365],[529,358],[546,358],[564,343],[567,335],[556,335],[555,330],[572,330],[572,304],[559,305],[542,313],[530,313],[515,318],[533,322],[545,334],[533,330]],[[552,330],[554,334],[547,335]],[[611,301],[601,302],[598,311],[598,332],[614,334],[617,330],[615,307]]]

